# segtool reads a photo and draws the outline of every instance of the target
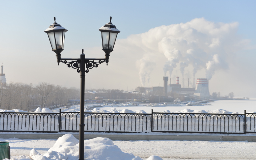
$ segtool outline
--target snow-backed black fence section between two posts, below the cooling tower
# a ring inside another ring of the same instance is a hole
[[[153,131],[193,133],[244,133],[244,115],[154,113]]]

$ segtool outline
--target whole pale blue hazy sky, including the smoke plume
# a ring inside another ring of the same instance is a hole
[[[80,76],[57,65],[46,30],[66,32],[62,58],[104,58],[98,30],[121,31],[106,64],[86,74],[86,89],[135,90],[180,77],[209,78],[209,91],[256,98],[256,1],[5,1],[0,0],[0,63],[6,81],[80,88]],[[184,82],[182,82],[184,78]],[[168,81],[169,84],[169,81]]]

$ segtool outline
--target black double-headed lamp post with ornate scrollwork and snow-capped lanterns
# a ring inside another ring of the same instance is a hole
[[[105,24],[99,30],[101,32],[102,50],[105,52],[105,58],[85,58],[85,54],[80,54],[80,58],[61,58],[61,52],[63,51],[65,33],[67,30],[60,24],[56,23],[54,17],[54,23],[47,28],[44,32],[48,34],[48,38],[51,43],[52,51],[56,53],[57,62],[65,63],[68,67],[72,67],[80,73],[81,79],[81,93],[80,93],[80,124],[79,124],[79,160],[84,159],[84,79],[85,73],[89,72],[89,69],[98,67],[99,64],[106,62],[108,65],[108,59],[110,52],[113,51],[117,34],[120,32],[116,29],[116,26],[111,22]]]

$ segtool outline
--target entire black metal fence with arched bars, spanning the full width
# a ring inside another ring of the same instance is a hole
[[[85,132],[256,133],[256,114],[86,112]],[[0,132],[78,132],[79,112],[0,112]]]

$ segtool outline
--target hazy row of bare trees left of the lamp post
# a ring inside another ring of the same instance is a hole
[[[80,90],[40,82],[24,84],[11,82],[0,85],[0,109],[33,111],[37,107],[55,108],[65,106],[70,99],[80,99]]]

